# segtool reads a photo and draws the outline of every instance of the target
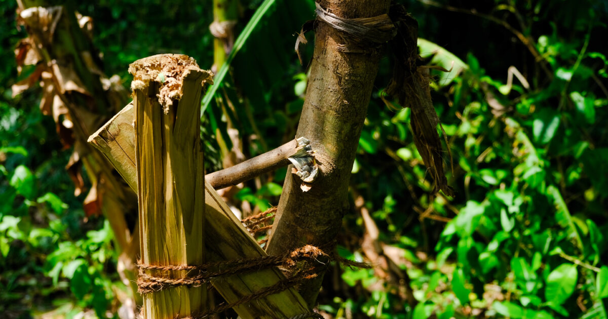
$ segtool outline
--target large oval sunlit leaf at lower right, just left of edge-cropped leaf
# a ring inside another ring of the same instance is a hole
[[[547,276],[545,300],[554,304],[562,304],[572,295],[576,287],[578,272],[573,264],[559,265]]]

